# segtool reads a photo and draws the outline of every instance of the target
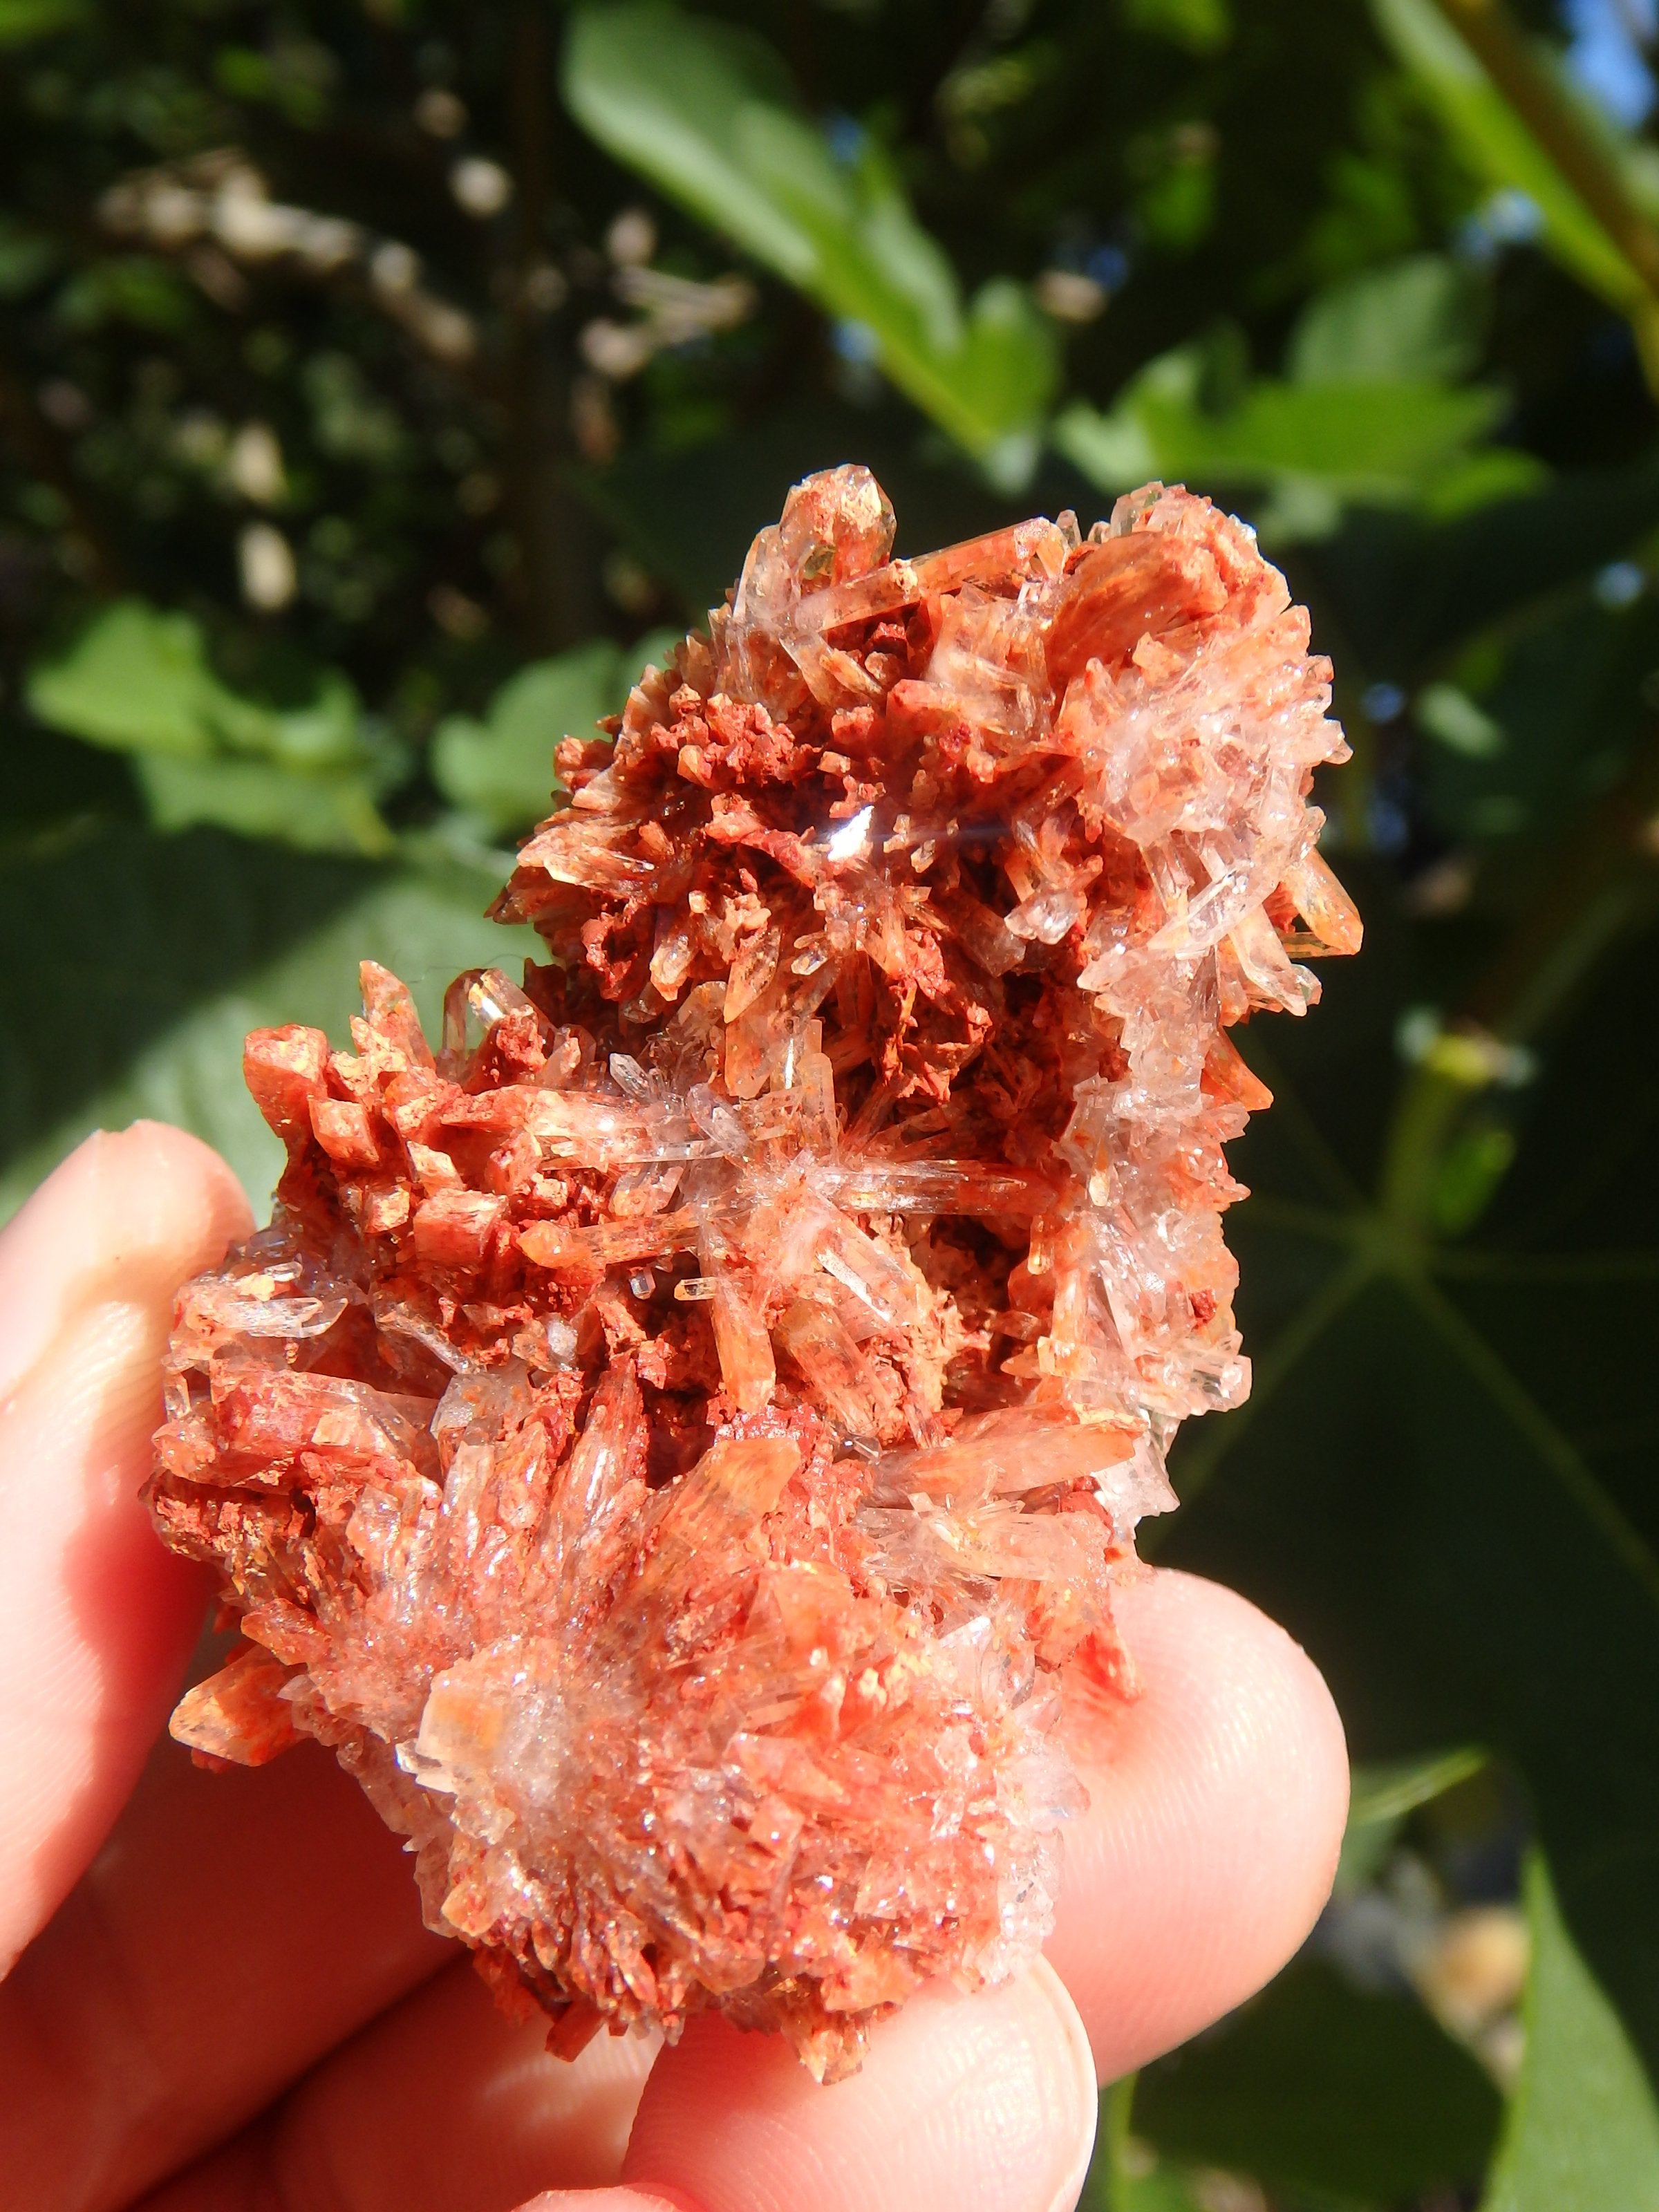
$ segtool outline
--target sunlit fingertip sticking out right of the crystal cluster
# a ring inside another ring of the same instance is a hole
[[[1168,1571],[1119,1593],[1141,1694],[1068,1708],[1091,1807],[1046,1944],[1102,2081],[1232,2011],[1329,1896],[1343,1723],[1312,1659],[1234,1590]]]

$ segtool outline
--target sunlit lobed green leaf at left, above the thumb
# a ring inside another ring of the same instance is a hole
[[[316,852],[392,847],[376,794],[396,752],[338,672],[301,708],[246,699],[215,675],[190,615],[119,599],[33,668],[27,699],[49,728],[137,754],[161,830],[206,821]]]

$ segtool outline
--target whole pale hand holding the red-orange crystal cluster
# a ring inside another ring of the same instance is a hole
[[[139,1124],[0,1232],[7,2205],[1068,2212],[1095,2084],[1259,1989],[1325,1902],[1347,1756],[1305,1652],[1217,1584],[1130,1584],[1141,1694],[1073,1712],[1091,1809],[1046,1960],[914,2000],[856,2079],[714,2020],[560,2066],[420,1927],[323,1752],[215,1776],[161,1734],[206,1586],[137,1498],[159,1360],[175,1287],[248,1225],[217,1155]]]

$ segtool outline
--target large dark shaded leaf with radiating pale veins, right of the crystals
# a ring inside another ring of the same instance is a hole
[[[1387,905],[1367,916],[1371,945],[1318,1018],[1272,1044],[1248,1035],[1276,1093],[1237,1148],[1254,1194],[1230,1230],[1254,1391],[1183,1433],[1183,1504],[1155,1548],[1305,1644],[1358,1759],[1480,1743],[1522,1774],[1575,1940],[1652,2066],[1659,1104],[1630,1018],[1652,927],[1555,1033],[1522,1031],[1542,1075],[1513,1166],[1480,1237],[1436,1245],[1433,1212],[1396,1219],[1367,1197],[1411,1121],[1398,1102],[1420,1097],[1420,1077],[1389,1066],[1411,984]],[[1562,956],[1579,958],[1566,918],[1544,958]],[[1551,967],[1513,984],[1517,1004],[1544,984],[1559,1002]],[[1484,1110],[1489,1093],[1467,1097]],[[1427,1155],[1431,1186],[1442,1157]]]

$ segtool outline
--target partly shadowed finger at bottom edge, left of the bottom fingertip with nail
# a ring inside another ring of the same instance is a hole
[[[655,2051],[599,2035],[549,2057],[546,2022],[509,2022],[456,1960],[144,2212],[509,2212],[549,2183],[604,2188]]]

